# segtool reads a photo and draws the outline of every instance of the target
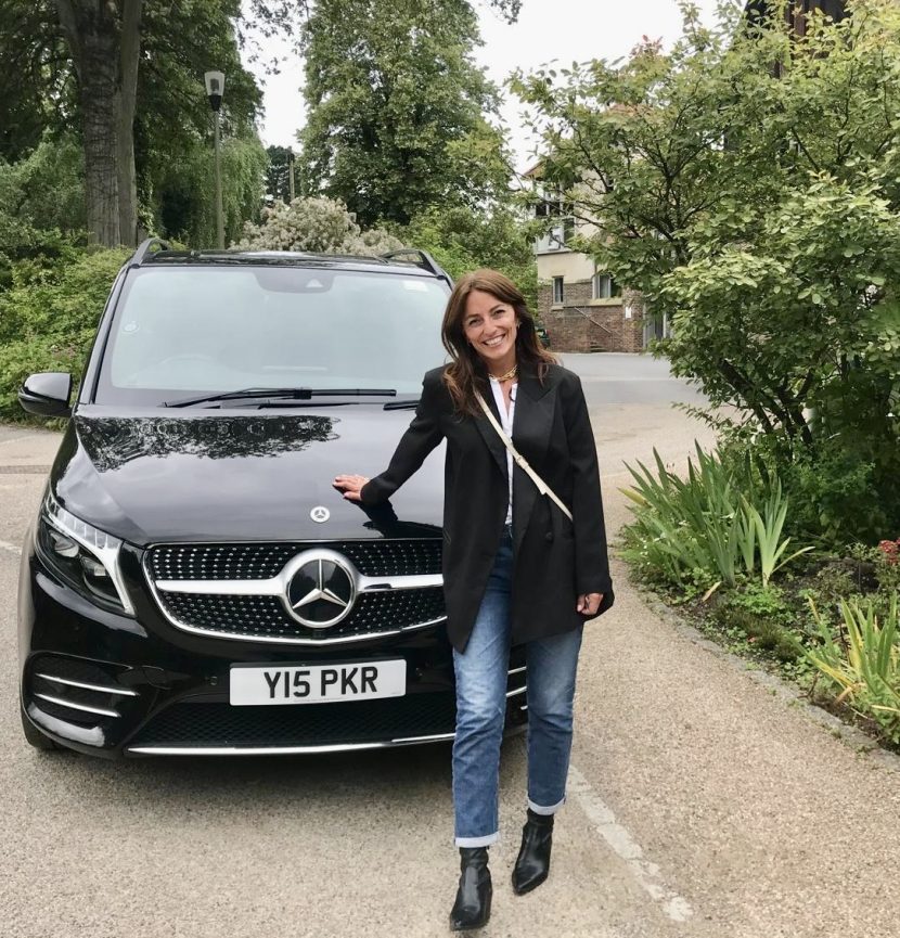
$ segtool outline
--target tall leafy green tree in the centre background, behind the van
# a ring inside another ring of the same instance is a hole
[[[342,198],[362,224],[503,192],[478,41],[464,0],[319,0],[303,33],[304,191]]]

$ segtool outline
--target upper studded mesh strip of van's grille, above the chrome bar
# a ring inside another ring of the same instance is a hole
[[[154,580],[263,580],[298,553],[327,548],[368,577],[440,573],[442,542],[410,538],[390,541],[321,541],[268,544],[166,544],[149,554]]]

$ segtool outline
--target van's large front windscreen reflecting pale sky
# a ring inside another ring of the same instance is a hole
[[[422,375],[445,361],[448,292],[442,281],[413,272],[134,270],[112,324],[95,402],[162,404],[250,387],[417,395]]]

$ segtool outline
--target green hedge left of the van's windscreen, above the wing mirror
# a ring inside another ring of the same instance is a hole
[[[0,420],[24,419],[16,393],[38,371],[81,373],[125,249],[63,246],[52,266],[20,261],[0,293]]]

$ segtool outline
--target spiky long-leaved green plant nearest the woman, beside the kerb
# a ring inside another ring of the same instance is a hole
[[[654,450],[656,473],[642,463],[627,465],[633,489],[634,521],[625,530],[625,556],[651,579],[682,586],[734,587],[756,575],[763,589],[776,570],[810,550],[785,556],[782,538],[787,500],[774,475],[760,476],[749,463],[727,466],[697,445],[682,479]]]

